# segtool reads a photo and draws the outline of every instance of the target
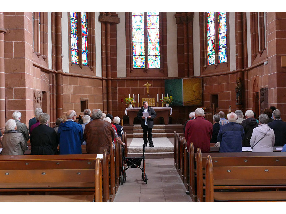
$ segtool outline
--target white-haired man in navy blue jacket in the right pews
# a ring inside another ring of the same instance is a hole
[[[237,119],[235,113],[231,112],[227,114],[227,119],[228,123],[219,129],[219,152],[242,152],[241,141],[244,137],[243,127],[235,122]]]

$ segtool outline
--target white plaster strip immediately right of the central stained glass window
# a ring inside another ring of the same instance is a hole
[[[175,12],[167,12],[168,77],[178,77],[177,24]]]

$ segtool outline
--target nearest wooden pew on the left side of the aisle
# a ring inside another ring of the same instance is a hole
[[[96,156],[3,155],[0,201],[102,201],[102,160]]]

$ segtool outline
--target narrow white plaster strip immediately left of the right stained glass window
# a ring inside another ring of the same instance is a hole
[[[199,12],[194,12],[193,20],[193,52],[194,52],[194,76],[201,75],[200,63],[200,23]]]

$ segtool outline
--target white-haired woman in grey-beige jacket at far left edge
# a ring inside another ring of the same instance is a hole
[[[2,155],[23,155],[27,150],[27,141],[18,132],[15,120],[8,120],[5,124],[6,132],[2,138]]]

